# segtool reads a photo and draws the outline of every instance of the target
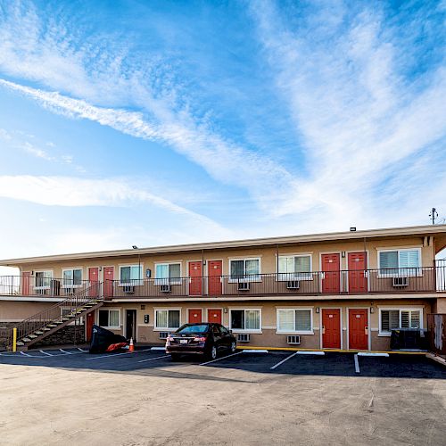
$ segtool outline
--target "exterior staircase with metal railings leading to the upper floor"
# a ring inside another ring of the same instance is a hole
[[[19,323],[17,328],[17,351],[26,351],[46,336],[53,335],[63,326],[74,322],[78,318],[87,316],[103,305],[103,299],[99,298],[97,285],[83,288],[70,298],[58,302],[46,310],[25,319]],[[10,329],[6,349],[12,350],[12,328]]]

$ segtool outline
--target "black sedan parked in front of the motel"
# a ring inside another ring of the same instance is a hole
[[[166,352],[172,359],[183,354],[198,354],[216,359],[220,351],[235,352],[235,336],[225,326],[209,322],[185,324],[166,341]]]

